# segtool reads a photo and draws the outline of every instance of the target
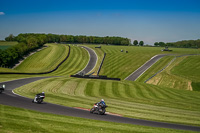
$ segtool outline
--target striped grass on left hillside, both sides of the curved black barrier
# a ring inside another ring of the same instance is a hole
[[[60,55],[62,55],[62,58],[56,55],[57,52],[62,51],[62,49],[58,47],[64,48],[64,50],[66,50],[64,53],[59,53]],[[9,81],[13,79],[19,79],[19,78],[35,77],[35,76],[68,76],[69,77],[69,75],[75,74],[81,71],[87,65],[89,61],[89,55],[85,49],[78,47],[76,45],[75,46],[71,45],[70,47],[71,47],[71,52],[70,52],[69,58],[55,72],[52,72],[50,74],[43,74],[43,75],[17,75],[17,74],[1,75],[0,82]],[[54,52],[51,52],[52,55],[48,55],[49,54],[48,52],[51,50]],[[56,44],[50,44],[48,48],[27,58],[16,69],[0,68],[0,71],[1,72],[41,72],[41,71],[52,70],[55,67],[54,62],[56,62],[56,64],[59,64],[60,61],[64,57],[67,56],[66,55],[67,53],[68,53],[67,46],[65,45],[57,46]],[[45,56],[45,58],[42,58],[43,56]],[[59,61],[57,61],[56,59],[59,59]],[[32,69],[32,66],[35,66],[34,63],[38,64],[40,60],[44,60],[44,62],[46,63],[39,64],[41,67],[36,66]]]

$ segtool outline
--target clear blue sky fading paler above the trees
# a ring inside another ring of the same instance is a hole
[[[196,40],[200,0],[0,0],[0,40],[20,33]]]

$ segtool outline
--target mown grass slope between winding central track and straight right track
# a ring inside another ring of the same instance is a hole
[[[128,53],[121,52],[128,50]],[[154,55],[160,53],[157,48],[140,48],[131,46],[102,46],[106,58],[100,75],[124,79],[143,65]]]

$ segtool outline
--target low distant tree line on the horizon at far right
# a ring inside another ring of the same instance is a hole
[[[170,43],[164,43],[164,42],[155,42],[154,46],[160,46],[160,47],[178,47],[178,48],[199,48],[200,47],[200,39],[198,40],[183,40],[183,41],[177,41],[177,42],[170,42]]]

